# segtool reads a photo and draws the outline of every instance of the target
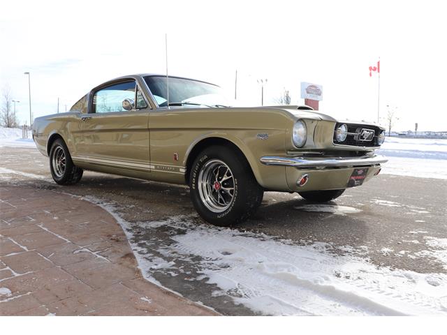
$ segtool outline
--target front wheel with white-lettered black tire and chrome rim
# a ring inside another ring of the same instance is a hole
[[[198,155],[189,186],[198,214],[220,226],[247,220],[261,204],[264,193],[244,156],[221,146],[208,147]]]

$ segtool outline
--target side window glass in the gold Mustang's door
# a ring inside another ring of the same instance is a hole
[[[93,96],[93,113],[126,112],[124,99],[135,100],[135,81],[122,82],[96,91]]]

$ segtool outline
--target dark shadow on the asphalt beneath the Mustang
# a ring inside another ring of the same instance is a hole
[[[182,215],[196,216],[186,186],[93,174],[85,176],[80,184],[69,188],[71,193],[89,194],[129,207],[124,212],[128,214],[126,218],[133,222]],[[361,209],[344,213],[337,209],[339,200],[316,204],[297,197],[296,193],[266,192],[256,214],[231,228],[306,243],[323,241],[361,245],[367,238],[370,228],[362,217]],[[328,212],[331,210],[335,213]],[[198,217],[194,221],[209,225]]]

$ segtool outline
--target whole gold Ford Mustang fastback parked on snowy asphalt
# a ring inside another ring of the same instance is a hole
[[[307,106],[228,107],[214,84],[150,74],[105,82],[33,124],[57,184],[77,183],[83,170],[187,184],[216,225],[249,218],[264,191],[339,197],[379,174],[384,135]]]

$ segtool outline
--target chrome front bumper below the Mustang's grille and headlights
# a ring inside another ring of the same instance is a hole
[[[295,168],[347,168],[355,166],[372,166],[381,163],[386,163],[388,159],[385,156],[361,156],[356,158],[294,158],[294,157],[277,157],[264,156],[261,157],[261,163],[265,165],[286,165]]]

